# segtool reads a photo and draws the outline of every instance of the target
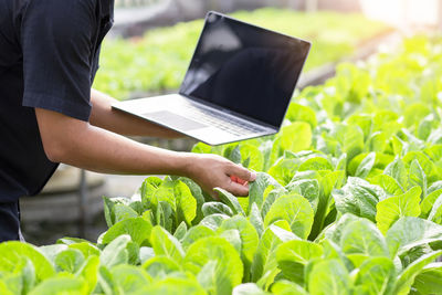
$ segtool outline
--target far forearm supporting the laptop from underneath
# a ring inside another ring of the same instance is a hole
[[[92,114],[91,124],[120,135],[152,136],[177,138],[182,135],[138,118],[130,114],[112,108],[114,98],[98,91],[91,91]]]

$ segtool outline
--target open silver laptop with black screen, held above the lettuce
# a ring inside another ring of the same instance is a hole
[[[210,11],[177,94],[113,107],[211,146],[272,135],[309,49],[307,41]]]

